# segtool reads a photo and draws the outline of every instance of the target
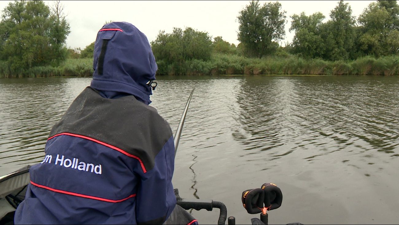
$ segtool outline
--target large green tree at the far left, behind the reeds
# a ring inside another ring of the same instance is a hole
[[[8,61],[12,72],[19,74],[30,67],[58,65],[65,59],[69,24],[61,8],[57,2],[55,11],[50,11],[39,0],[10,2],[4,8],[0,55]]]

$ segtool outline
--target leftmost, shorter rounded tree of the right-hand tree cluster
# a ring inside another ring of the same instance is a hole
[[[295,31],[292,40],[292,52],[306,58],[322,57],[324,54],[324,41],[321,35],[322,21],[324,15],[320,12],[306,16],[304,12],[300,15],[292,15],[289,31]]]

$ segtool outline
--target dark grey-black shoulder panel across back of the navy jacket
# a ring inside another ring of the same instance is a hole
[[[103,98],[87,87],[72,102],[49,137],[73,133],[96,139],[140,158],[146,170],[172,137],[168,122],[155,108],[134,98]]]

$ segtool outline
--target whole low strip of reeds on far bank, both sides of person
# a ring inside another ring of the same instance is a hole
[[[354,61],[324,61],[295,56],[246,58],[237,55],[213,54],[210,61],[193,59],[166,65],[158,61],[157,75],[399,75],[399,57],[363,57]],[[59,67],[32,67],[15,73],[0,61],[0,78],[92,76],[93,59],[67,59]]]

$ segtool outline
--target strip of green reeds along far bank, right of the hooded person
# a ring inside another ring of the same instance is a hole
[[[181,73],[169,66],[160,74],[298,74],[298,75],[399,75],[399,57],[359,58],[354,61],[324,61],[298,57],[249,59],[235,55],[213,55],[208,62],[193,60],[182,65]]]

